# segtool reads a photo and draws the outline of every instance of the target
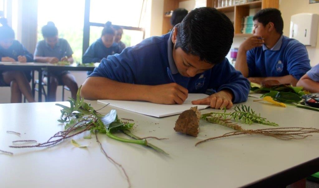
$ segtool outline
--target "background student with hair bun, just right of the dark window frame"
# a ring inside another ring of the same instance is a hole
[[[101,37],[85,51],[82,63],[100,62],[109,55],[121,53],[119,45],[114,43],[115,35],[116,31],[113,29],[112,23],[107,22],[102,30]]]

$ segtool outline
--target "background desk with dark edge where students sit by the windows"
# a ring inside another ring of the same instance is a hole
[[[96,64],[95,66],[97,66]],[[56,71],[56,70],[70,70],[70,71],[93,71],[95,67],[84,67],[84,66],[77,66],[76,63],[73,63],[71,65],[63,65],[58,66],[55,64],[50,63],[19,63],[19,62],[0,62],[0,70],[31,70],[31,71],[38,71],[39,76],[38,80],[42,80],[42,71],[47,70],[48,75],[50,75],[50,71]],[[47,93],[50,91],[50,77],[48,76],[48,87],[47,87]],[[32,74],[32,88],[34,88],[34,74]],[[39,88],[42,88],[42,82],[39,82]],[[39,89],[38,91],[38,99],[39,102],[42,102],[42,90]]]

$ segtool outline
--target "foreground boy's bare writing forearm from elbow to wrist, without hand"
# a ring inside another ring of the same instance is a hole
[[[88,100],[141,100],[150,101],[152,86],[127,84],[104,77],[88,77],[83,83],[81,96]]]

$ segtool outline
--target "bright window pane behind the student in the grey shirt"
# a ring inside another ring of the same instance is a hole
[[[43,40],[41,28],[52,21],[58,29],[59,38],[69,42],[74,61],[81,62],[84,5],[85,0],[38,1],[38,41]]]

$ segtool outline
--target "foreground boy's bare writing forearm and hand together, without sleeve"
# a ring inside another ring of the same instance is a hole
[[[175,83],[151,86],[127,84],[105,77],[88,77],[82,85],[81,96],[89,100],[139,100],[157,104],[183,104],[188,90]]]

